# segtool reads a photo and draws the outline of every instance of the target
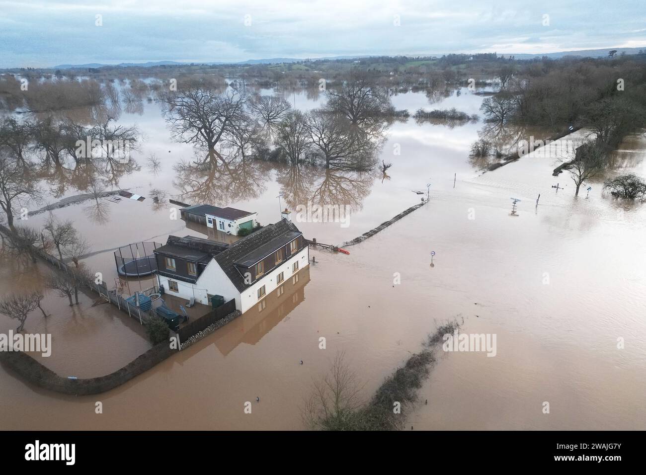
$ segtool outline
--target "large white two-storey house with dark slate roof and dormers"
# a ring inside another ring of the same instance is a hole
[[[288,216],[288,215],[287,215]],[[154,249],[157,279],[165,292],[209,305],[214,295],[235,299],[243,313],[309,266],[309,247],[293,222],[283,218],[225,244],[169,236]]]

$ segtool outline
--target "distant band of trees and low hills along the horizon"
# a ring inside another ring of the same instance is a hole
[[[21,87],[21,79],[28,80],[28,90]],[[352,125],[370,122],[373,138],[384,130],[379,123],[395,118],[406,120],[410,115],[408,111],[395,111],[388,96],[419,90],[425,91],[432,103],[450,96],[455,89],[470,86],[475,90],[483,85],[493,94],[483,102],[482,111],[487,135],[494,143],[497,135],[503,136],[508,124],[539,125],[554,131],[563,131],[572,125],[591,127],[597,132],[599,141],[610,150],[616,148],[626,134],[646,125],[646,54],[531,60],[501,58],[496,54],[452,54],[441,58],[384,56],[283,65],[103,67],[61,70],[52,74],[44,70],[25,70],[18,76],[0,75],[0,110],[52,114],[83,107],[105,108],[107,104],[114,109],[122,102],[127,111],[128,108],[137,111],[143,100],[167,103],[169,98],[163,96],[172,80],[178,85],[178,91],[173,94],[176,99],[189,91],[197,91],[200,97],[208,98],[214,104],[222,102],[218,97],[226,99],[227,87],[240,98],[249,98],[248,106],[260,104],[259,97],[252,97],[264,94],[260,89],[306,89],[308,96],[326,94],[329,103],[324,109],[327,112],[340,112],[337,115],[346,116]],[[264,97],[269,98],[271,94]],[[362,97],[371,98],[369,107],[357,107]],[[298,114],[284,117],[288,110],[286,105],[276,100],[271,107],[277,104],[280,104],[281,112],[278,117],[287,119],[282,130],[292,134],[289,125],[296,127],[298,132],[301,125]],[[115,112],[111,111],[107,116],[116,118]],[[357,120],[357,114],[360,120]],[[448,112],[421,110],[417,112],[417,119],[433,114],[444,116]],[[459,111],[451,114],[461,116]],[[306,128],[311,131],[312,127],[317,127],[317,119],[323,121],[326,116],[316,118],[309,114],[309,119]],[[238,118],[236,121],[248,122]],[[322,122],[322,125],[321,133],[325,138],[340,134],[348,140],[350,137],[356,140],[346,126],[340,128],[338,123],[331,121]],[[242,130],[249,130],[249,127],[242,127]],[[286,148],[281,147],[283,151]],[[261,155],[273,160],[275,156],[270,152]],[[301,160],[300,153],[287,155],[291,155],[290,161]],[[329,166],[329,156],[326,159]]]

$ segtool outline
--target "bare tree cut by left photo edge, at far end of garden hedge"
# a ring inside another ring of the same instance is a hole
[[[12,205],[39,197],[40,190],[30,170],[20,164],[7,147],[0,147],[0,207],[5,211],[9,227],[14,227]]]

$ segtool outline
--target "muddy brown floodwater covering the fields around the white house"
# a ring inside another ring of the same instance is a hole
[[[309,103],[303,94],[295,94],[295,100]],[[411,112],[456,107],[469,114],[478,112],[481,101],[466,90],[433,104],[424,94],[393,98],[398,109]],[[155,104],[145,103],[141,115],[122,114],[120,122],[137,122],[145,132],[142,160],[149,153],[162,160],[156,176],[144,166],[123,176],[121,187],[143,196],[160,189],[180,198],[171,165],[191,158],[190,147],[170,140]],[[452,319],[463,323],[463,332],[495,333],[497,354],[442,354],[419,392],[428,405],[409,416],[415,429],[646,428],[645,208],[604,195],[603,176],[592,180],[588,198],[585,191],[575,198],[567,172],[552,176],[559,161],[549,154],[530,154],[483,174],[468,159],[481,127],[481,122],[459,127],[393,123],[380,156],[393,163],[390,178],[307,167],[294,176],[286,167],[258,164],[247,174],[231,174],[240,193],[227,201],[229,195],[220,193],[231,190],[223,181],[227,178],[213,176],[207,192],[193,197],[211,196],[222,199],[210,201],[216,206],[258,211],[263,224],[278,220],[279,193],[282,206],[287,201],[293,207],[307,196],[320,196],[319,185],[334,185],[333,196],[343,196],[351,206],[349,226],[297,225],[306,237],[335,244],[418,203],[420,196],[411,191],[425,196],[428,183],[431,200],[349,246],[350,255],[312,249],[317,263],[303,269],[298,282],[288,282],[283,295],[270,295],[266,308],[252,308],[105,394],[53,394],[1,368],[0,428],[300,429],[300,407],[311,383],[338,351],[365,383],[362,396],[368,399],[384,377],[421,348],[428,333]],[[539,133],[521,131],[527,138]],[[393,154],[395,144],[399,155]],[[646,174],[645,157],[646,137],[631,136],[610,174]],[[552,189],[557,182],[563,189]],[[71,189],[65,196],[78,193]],[[510,198],[521,200],[516,215],[510,214]],[[94,253],[84,262],[104,273],[107,282],[116,277],[111,249],[141,240],[165,242],[171,233],[207,237],[203,229],[170,219],[169,208],[149,197],[105,205],[107,217],[101,213],[101,219],[92,213],[92,202],[54,214],[74,220],[92,242]],[[41,225],[46,218],[32,216],[30,224]],[[396,273],[401,284],[393,283]],[[2,293],[19,288],[16,275],[39,282],[3,265]],[[149,280],[129,284],[134,291],[149,286]],[[83,297],[87,300],[75,310],[82,315],[69,317],[67,299],[47,296],[46,310],[57,315],[52,335],[65,342],[65,350],[43,363],[59,374],[105,374],[149,347],[136,322],[105,304],[91,307],[91,297]],[[3,319],[2,328],[15,328]],[[27,330],[44,331],[42,320],[30,315]],[[324,350],[320,337],[326,338]],[[620,338],[623,349],[618,349]],[[103,402],[103,414],[95,414],[96,401]],[[244,413],[246,401],[252,414]],[[542,412],[545,401],[550,414]]]

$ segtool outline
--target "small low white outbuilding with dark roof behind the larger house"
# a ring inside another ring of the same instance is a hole
[[[237,236],[241,229],[252,231],[258,225],[258,213],[231,207],[220,208],[209,204],[182,208],[180,215],[185,220],[198,222],[234,236]]]

